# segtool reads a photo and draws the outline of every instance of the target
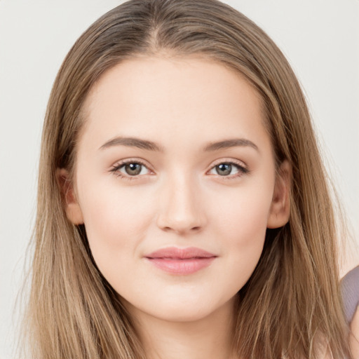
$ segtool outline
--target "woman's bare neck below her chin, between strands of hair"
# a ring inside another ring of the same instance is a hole
[[[128,303],[127,305],[128,306]],[[231,359],[233,302],[205,318],[171,322],[128,307],[148,359]]]

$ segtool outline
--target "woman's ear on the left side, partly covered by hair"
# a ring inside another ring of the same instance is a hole
[[[74,191],[74,184],[69,179],[69,172],[65,168],[57,168],[57,182],[60,187],[62,201],[67,218],[73,224],[83,224],[83,215]]]

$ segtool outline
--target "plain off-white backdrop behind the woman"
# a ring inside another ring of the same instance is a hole
[[[287,55],[308,97],[325,161],[358,241],[359,1],[225,2],[255,20]],[[41,126],[50,88],[74,41],[120,3],[0,0],[1,359],[13,358],[13,304],[34,220]],[[348,259],[346,267],[355,260]]]

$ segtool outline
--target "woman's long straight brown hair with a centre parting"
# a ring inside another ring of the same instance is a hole
[[[350,358],[337,230],[306,100],[262,29],[217,0],[131,0],[97,20],[65,58],[43,126],[26,332],[36,359],[146,358],[131,318],[97,270],[84,226],[65,215],[57,168],[74,170],[83,102],[107,69],[139,55],[198,55],[240,72],[262,97],[276,161],[292,166],[290,221],[268,229],[238,292],[238,358]]]

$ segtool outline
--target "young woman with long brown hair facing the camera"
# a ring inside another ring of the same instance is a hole
[[[34,358],[351,358],[302,90],[215,0],[132,0],[76,41],[43,128]]]

